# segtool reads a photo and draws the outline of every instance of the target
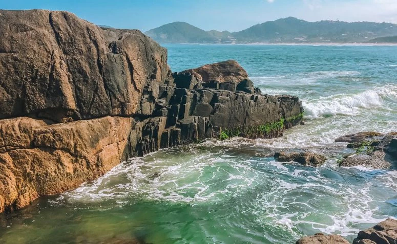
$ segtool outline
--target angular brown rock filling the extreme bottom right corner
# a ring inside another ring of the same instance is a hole
[[[372,228],[360,231],[353,244],[360,243],[396,244],[397,219],[389,218]]]

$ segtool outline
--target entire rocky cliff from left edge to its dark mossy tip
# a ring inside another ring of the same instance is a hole
[[[297,97],[261,95],[235,61],[171,73],[137,30],[67,12],[0,11],[0,212],[93,180],[135,155],[204,138],[270,138]]]

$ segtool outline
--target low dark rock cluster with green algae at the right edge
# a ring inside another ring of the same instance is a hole
[[[364,165],[374,169],[389,168],[397,161],[397,133],[390,132],[359,132],[346,135],[335,140],[336,142],[349,142],[348,148],[356,153],[345,156],[339,166],[351,167]]]

